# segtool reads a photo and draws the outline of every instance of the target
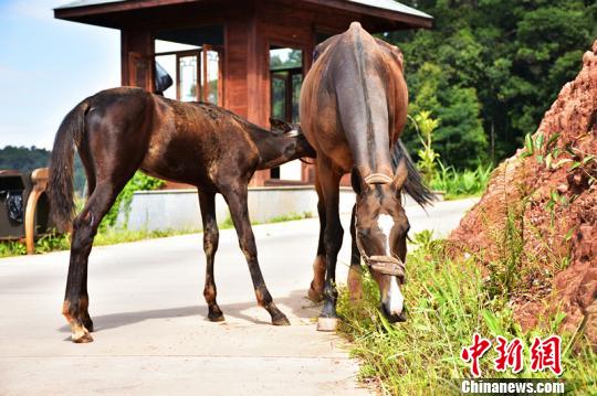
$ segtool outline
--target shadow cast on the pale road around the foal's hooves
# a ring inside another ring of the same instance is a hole
[[[292,313],[293,317],[303,320],[316,318],[320,314],[320,306],[314,304],[306,299],[306,289],[294,290],[287,297],[274,298],[274,302],[284,313]],[[259,320],[252,315],[248,315],[244,313],[245,310],[254,307],[256,307],[256,301],[254,300],[232,304],[220,304],[220,308],[222,309],[226,318],[235,318],[256,324],[271,325],[270,322]],[[197,315],[201,317],[205,321],[209,321],[207,319],[207,306],[205,304],[205,302],[202,302],[199,306],[166,308],[136,312],[119,312],[96,317],[93,315],[93,310],[90,313],[92,314],[95,331],[102,331],[135,324],[149,319],[169,319]],[[63,333],[70,333],[71,329],[67,324],[65,324],[61,327],[59,331]]]

